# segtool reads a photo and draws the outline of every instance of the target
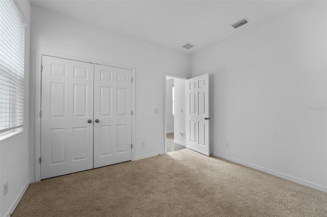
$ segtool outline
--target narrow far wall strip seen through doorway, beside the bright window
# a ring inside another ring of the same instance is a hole
[[[173,87],[174,78],[166,80],[166,132],[174,132],[173,116]]]

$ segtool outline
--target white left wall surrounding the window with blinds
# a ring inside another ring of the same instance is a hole
[[[21,193],[30,183],[29,176],[29,101],[30,101],[30,36],[31,4],[16,2],[27,24],[25,28],[25,72],[24,72],[24,132],[14,135],[0,144],[0,216],[9,215],[17,205]],[[8,181],[8,193],[3,186]]]

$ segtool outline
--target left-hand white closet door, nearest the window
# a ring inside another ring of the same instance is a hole
[[[93,168],[94,64],[42,56],[41,179]]]

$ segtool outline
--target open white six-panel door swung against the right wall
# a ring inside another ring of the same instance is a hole
[[[209,75],[187,80],[186,147],[209,156]]]

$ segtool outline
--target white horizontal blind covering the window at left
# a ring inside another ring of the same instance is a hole
[[[12,0],[0,0],[0,133],[24,123],[25,22]]]

